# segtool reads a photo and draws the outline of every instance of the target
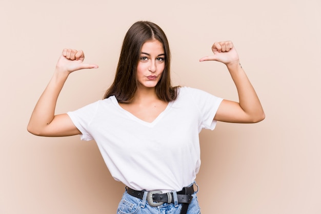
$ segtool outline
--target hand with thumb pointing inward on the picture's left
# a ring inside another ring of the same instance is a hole
[[[84,63],[85,54],[82,50],[64,49],[59,57],[56,70],[60,72],[74,72],[81,69],[98,68],[97,65]]]

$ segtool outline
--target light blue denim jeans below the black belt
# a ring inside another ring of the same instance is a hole
[[[192,195],[193,200],[188,206],[188,214],[200,214],[196,192]],[[153,207],[150,206],[146,200],[147,192],[145,192],[143,200],[141,200],[129,195],[127,191],[125,191],[121,202],[119,202],[117,214],[179,214],[180,209],[182,209],[182,204],[177,203],[175,192],[173,192],[173,195],[174,203],[164,203],[163,205]]]

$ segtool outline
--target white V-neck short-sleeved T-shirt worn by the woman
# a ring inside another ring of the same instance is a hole
[[[182,87],[151,123],[124,110],[114,96],[68,112],[82,140],[94,139],[117,181],[136,190],[178,191],[200,166],[199,132],[213,130],[222,98]]]

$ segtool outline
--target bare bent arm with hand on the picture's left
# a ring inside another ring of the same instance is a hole
[[[31,114],[28,132],[47,137],[81,134],[67,114],[55,115],[55,108],[58,96],[71,72],[98,68],[96,65],[83,63],[84,58],[83,51],[64,49],[52,78]]]

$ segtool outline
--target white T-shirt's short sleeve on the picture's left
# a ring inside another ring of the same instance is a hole
[[[81,140],[93,140],[89,132],[89,127],[92,119],[97,112],[98,101],[84,106],[76,111],[67,112],[74,125],[82,133]]]

